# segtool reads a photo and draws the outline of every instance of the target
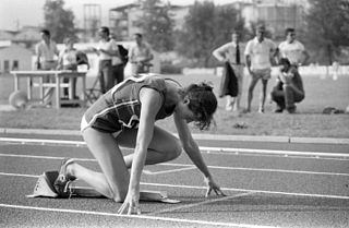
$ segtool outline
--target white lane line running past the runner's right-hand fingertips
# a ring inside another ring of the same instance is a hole
[[[21,173],[7,173],[0,172],[0,176],[8,177],[28,177],[28,178],[38,178],[39,176],[33,175],[21,175]],[[143,185],[149,187],[166,187],[166,188],[179,188],[179,189],[203,189],[206,190],[206,187],[195,187],[195,185],[178,185],[178,184],[168,184],[168,183],[146,183],[141,182]],[[254,190],[254,189],[236,189],[236,188],[220,188],[222,191],[233,191],[233,192],[253,192],[253,193],[266,193],[266,194],[281,194],[281,195],[296,195],[296,196],[309,196],[309,197],[328,197],[328,199],[340,199],[349,200],[349,195],[326,195],[326,194],[310,194],[310,193],[298,193],[298,192],[278,192],[278,191],[266,191],[266,190]]]

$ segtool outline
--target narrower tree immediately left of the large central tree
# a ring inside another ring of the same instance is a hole
[[[172,50],[173,21],[170,17],[170,4],[161,0],[141,0],[143,14],[137,19],[136,24],[147,37],[149,45],[157,51]]]

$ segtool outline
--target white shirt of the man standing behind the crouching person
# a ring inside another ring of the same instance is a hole
[[[302,61],[304,46],[294,40],[292,43],[282,41],[279,44],[279,51],[282,58],[287,58],[291,64],[298,64]]]

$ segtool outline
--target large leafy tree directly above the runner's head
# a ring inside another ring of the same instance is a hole
[[[209,67],[215,61],[212,51],[230,41],[232,31],[246,34],[244,20],[232,5],[216,7],[213,1],[195,1],[179,34],[177,50],[197,67]]]

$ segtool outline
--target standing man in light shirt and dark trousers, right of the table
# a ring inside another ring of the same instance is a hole
[[[115,85],[115,76],[112,72],[111,60],[112,57],[119,55],[119,51],[116,40],[110,38],[108,27],[100,27],[98,31],[98,47],[93,48],[93,50],[98,55],[99,58],[99,85],[100,92],[105,94]]]

